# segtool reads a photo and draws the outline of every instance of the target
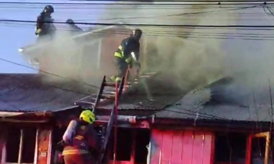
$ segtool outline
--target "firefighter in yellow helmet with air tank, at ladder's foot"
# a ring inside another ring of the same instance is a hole
[[[95,114],[91,110],[84,110],[79,119],[69,123],[62,141],[65,164],[95,163],[94,154],[99,153],[101,142],[92,125],[94,121]]]

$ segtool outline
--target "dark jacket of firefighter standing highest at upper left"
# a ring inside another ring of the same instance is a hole
[[[53,19],[50,15],[41,13],[36,20],[36,31],[37,35],[52,35],[55,32],[56,28],[53,25]]]

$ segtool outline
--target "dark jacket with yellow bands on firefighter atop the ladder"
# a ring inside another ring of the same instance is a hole
[[[127,62],[129,58],[131,58],[131,52],[136,54],[136,58],[139,58],[139,48],[140,43],[133,37],[125,38],[121,42],[118,50],[115,52],[114,56],[118,58],[122,58],[124,61]],[[128,63],[128,62],[127,62]]]

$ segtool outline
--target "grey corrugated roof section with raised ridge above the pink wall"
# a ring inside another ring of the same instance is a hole
[[[240,87],[233,78],[223,78],[202,89],[189,92],[176,103],[157,112],[155,117],[270,122],[269,91],[256,95],[260,99],[254,104],[252,92],[238,90]],[[263,99],[268,102],[260,101]]]

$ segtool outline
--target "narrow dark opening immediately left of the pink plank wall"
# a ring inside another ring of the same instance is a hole
[[[135,163],[147,163],[149,138],[149,130],[136,130]]]

